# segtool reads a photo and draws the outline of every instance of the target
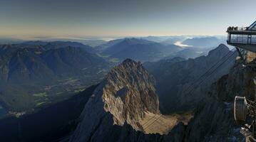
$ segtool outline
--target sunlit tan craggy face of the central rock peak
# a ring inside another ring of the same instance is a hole
[[[125,60],[108,73],[105,81],[104,109],[115,116],[115,124],[122,125],[127,120],[137,128],[135,121],[143,118],[144,111],[159,113],[155,80],[139,62]]]

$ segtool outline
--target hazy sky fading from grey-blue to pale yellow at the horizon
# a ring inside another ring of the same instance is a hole
[[[225,35],[255,0],[0,0],[0,36]]]

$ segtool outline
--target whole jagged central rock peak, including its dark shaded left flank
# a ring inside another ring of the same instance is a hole
[[[110,133],[119,138],[126,126],[143,131],[145,112],[159,114],[154,83],[140,62],[128,59],[114,67],[86,104],[71,141],[106,141]]]

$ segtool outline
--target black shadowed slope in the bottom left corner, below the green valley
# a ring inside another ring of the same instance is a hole
[[[33,114],[0,119],[0,141],[56,141],[76,128],[76,119],[97,85]],[[67,112],[68,110],[68,112]],[[61,139],[60,139],[61,138]]]

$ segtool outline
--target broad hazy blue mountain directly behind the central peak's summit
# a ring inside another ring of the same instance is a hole
[[[176,45],[163,45],[137,38],[125,38],[111,43],[104,46],[105,49],[101,51],[101,54],[118,60],[131,58],[141,62],[155,61],[180,50],[180,47]]]

